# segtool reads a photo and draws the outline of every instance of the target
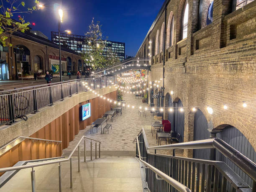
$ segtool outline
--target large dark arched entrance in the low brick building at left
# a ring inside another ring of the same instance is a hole
[[[31,74],[31,63],[30,63],[30,50],[24,45],[17,45],[13,47],[15,54],[15,68],[16,78],[18,74]]]

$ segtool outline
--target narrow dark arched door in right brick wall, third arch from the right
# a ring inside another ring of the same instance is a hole
[[[184,141],[184,109],[182,101],[178,98],[175,103],[175,132],[180,134],[179,142]]]

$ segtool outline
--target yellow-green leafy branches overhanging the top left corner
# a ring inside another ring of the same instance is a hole
[[[15,31],[21,31],[22,33],[28,29],[29,22],[24,20],[24,16],[19,16],[18,21],[13,19],[14,15],[20,15],[23,13],[33,13],[33,11],[39,9],[39,1],[34,1],[34,6],[26,7],[25,2],[21,0],[1,0],[0,2],[0,43],[3,46],[12,46],[6,40]]]

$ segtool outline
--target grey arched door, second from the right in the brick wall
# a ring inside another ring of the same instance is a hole
[[[194,117],[194,141],[210,138],[205,115],[197,109]],[[210,149],[194,149],[193,158],[210,160]]]

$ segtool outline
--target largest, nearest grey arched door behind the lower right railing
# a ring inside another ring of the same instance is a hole
[[[235,127],[224,128],[223,131],[217,133],[217,137],[228,143],[230,146],[236,148],[240,153],[251,159],[251,161],[256,163],[256,152],[254,151],[251,143],[248,139]],[[233,162],[231,162],[227,157],[220,154],[216,150],[216,160],[224,161],[234,172],[236,172],[245,182],[252,187],[252,180],[245,174],[241,169],[238,168]]]

